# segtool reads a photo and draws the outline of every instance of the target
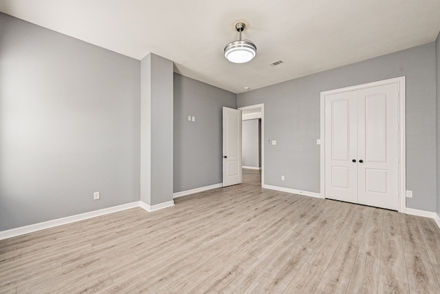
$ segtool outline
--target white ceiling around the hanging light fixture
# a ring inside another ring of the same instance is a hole
[[[429,43],[440,31],[439,0],[0,0],[0,11],[135,59],[153,52],[234,93]],[[237,21],[257,47],[250,63],[223,56]]]

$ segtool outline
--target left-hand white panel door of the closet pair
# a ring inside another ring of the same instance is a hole
[[[355,92],[325,97],[325,197],[358,202]]]

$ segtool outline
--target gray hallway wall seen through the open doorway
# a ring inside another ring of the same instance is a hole
[[[244,167],[261,167],[260,123],[259,119],[243,120],[241,123],[241,164]]]

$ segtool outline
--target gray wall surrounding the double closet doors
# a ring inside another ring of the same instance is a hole
[[[435,43],[238,94],[238,107],[265,103],[265,138],[277,140],[265,145],[265,184],[319,193],[320,92],[397,76],[406,76],[407,207],[434,211]]]

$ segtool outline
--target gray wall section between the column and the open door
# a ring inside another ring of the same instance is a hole
[[[236,94],[174,74],[174,192],[222,182],[223,106]]]

